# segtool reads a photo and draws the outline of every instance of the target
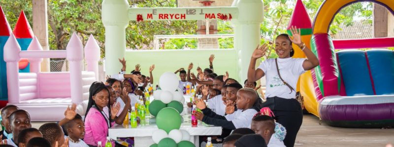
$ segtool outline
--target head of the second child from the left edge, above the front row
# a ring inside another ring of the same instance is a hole
[[[8,126],[14,137],[17,137],[23,129],[32,127],[30,117],[26,112],[18,112],[10,121]]]

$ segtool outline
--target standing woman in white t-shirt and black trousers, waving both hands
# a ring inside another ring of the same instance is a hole
[[[302,42],[300,29],[292,26],[291,32],[293,34],[292,38],[288,34],[280,34],[276,37],[275,52],[278,54],[277,59],[266,59],[255,70],[256,60],[260,60],[268,49],[267,45],[264,44],[253,52],[248,70],[248,81],[257,81],[266,75],[265,97],[267,101],[263,103],[263,107],[269,107],[273,111],[277,122],[286,127],[287,135],[284,140],[286,147],[294,146],[297,132],[302,123],[302,110],[296,100],[295,91],[298,78],[305,71],[312,70],[319,65],[319,60],[315,54]],[[292,58],[295,52],[292,43],[304,52],[307,59]],[[277,66],[279,70],[277,70]],[[280,74],[278,74],[278,71]]]

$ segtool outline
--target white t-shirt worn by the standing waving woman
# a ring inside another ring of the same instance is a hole
[[[278,67],[281,77],[295,90],[297,88],[299,75],[305,73],[305,70],[302,67],[305,60],[305,58],[278,58]],[[296,98],[296,92],[291,91],[291,89],[283,84],[282,80],[279,78],[276,70],[275,59],[266,59],[260,64],[259,69],[263,70],[265,73],[265,98]]]

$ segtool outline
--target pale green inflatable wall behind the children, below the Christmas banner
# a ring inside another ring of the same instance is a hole
[[[215,54],[213,61],[214,72],[218,75],[229,72],[231,78],[239,80],[235,49],[171,49],[171,50],[128,50],[126,72],[134,70],[136,64],[141,65],[141,73],[149,76],[149,67],[155,64],[153,71],[154,84],[159,82],[160,75],[164,72],[175,72],[183,67],[187,70],[193,62],[192,72],[197,74],[197,66],[201,69],[209,68],[209,56]],[[245,67],[247,69],[247,67]],[[245,80],[245,79],[243,79]],[[241,80],[241,81],[243,81]]]

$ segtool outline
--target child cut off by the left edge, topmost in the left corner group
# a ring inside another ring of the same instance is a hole
[[[0,135],[3,135],[1,140],[12,138],[11,129],[8,127],[8,117],[11,115],[12,112],[18,109],[19,108],[15,105],[6,105],[4,108],[1,109],[1,125],[4,126],[4,130],[0,131]]]

